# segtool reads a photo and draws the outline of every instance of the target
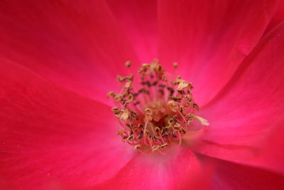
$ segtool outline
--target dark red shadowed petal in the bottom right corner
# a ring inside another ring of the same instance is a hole
[[[214,160],[210,189],[283,189],[284,176],[256,167]]]

